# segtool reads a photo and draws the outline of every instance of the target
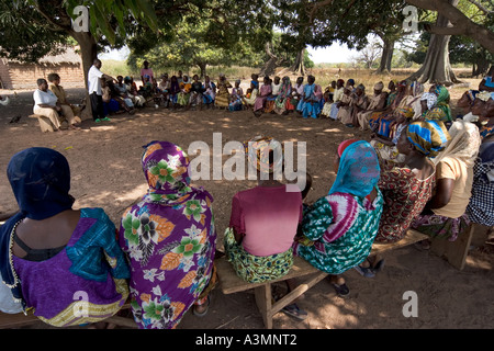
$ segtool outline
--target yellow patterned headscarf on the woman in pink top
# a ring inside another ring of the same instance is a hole
[[[272,173],[276,169],[281,170],[283,163],[283,146],[270,136],[256,136],[244,143],[248,161],[260,173]],[[272,159],[270,160],[270,152]]]

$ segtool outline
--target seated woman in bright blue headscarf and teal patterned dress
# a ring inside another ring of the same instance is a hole
[[[377,186],[378,157],[369,143],[343,141],[334,166],[336,180],[327,196],[304,211],[303,236],[296,238],[293,251],[332,274],[336,292],[345,296],[349,290],[338,275],[369,256],[378,234],[383,196]]]

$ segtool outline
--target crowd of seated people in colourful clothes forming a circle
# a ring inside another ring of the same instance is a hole
[[[299,256],[328,273],[338,296],[345,297],[350,290],[343,274],[353,269],[372,278],[383,269],[384,259],[370,254],[373,242],[397,242],[409,228],[448,241],[464,235],[472,224],[492,228],[493,73],[491,69],[478,91],[465,92],[460,99],[462,114],[457,116],[441,84],[425,91],[417,81],[393,81],[384,94],[384,84],[378,82],[366,99],[366,88],[353,80],[346,84],[338,80],[323,93],[312,76],[306,84],[297,80],[294,87],[287,77],[276,79],[276,89],[269,77],[261,84],[252,76],[250,95],[242,98],[237,81],[234,88],[222,75],[213,99],[221,109],[242,101],[255,113],[300,111],[306,118],[324,110],[349,128],[368,128],[371,139],[350,138],[338,145],[336,180],[314,203],[304,203],[311,182],[299,189],[273,177],[283,165],[273,137],[245,143],[258,183],[232,199],[224,247],[237,275],[256,283],[280,279]],[[178,83],[173,104],[190,106],[194,92],[192,103],[201,104],[199,94],[209,88],[199,84],[197,76],[191,82],[186,77],[180,83],[171,78],[170,87]],[[235,89],[235,98],[228,89]],[[325,94],[332,97],[332,105],[317,105]],[[203,316],[216,282],[213,196],[190,185],[188,166],[180,146],[146,145],[141,167],[148,190],[123,212],[115,228],[102,208],[72,210],[69,167],[63,155],[47,148],[15,154],[8,179],[20,212],[0,227],[0,309],[34,307],[42,320],[70,326],[103,320],[131,296],[141,328],[175,328],[188,309]],[[58,186],[52,186],[53,179]],[[494,245],[492,231],[485,242]],[[428,240],[420,242],[423,249],[427,245]],[[288,288],[295,283],[287,281]],[[48,296],[46,286],[53,286],[56,296]],[[72,296],[81,286],[91,295],[89,316],[74,318]],[[306,317],[297,303],[283,312]]]

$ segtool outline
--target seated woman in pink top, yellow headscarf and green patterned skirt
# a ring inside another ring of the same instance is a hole
[[[292,244],[302,220],[302,195],[296,184],[282,184],[283,149],[271,137],[245,143],[248,165],[258,185],[235,194],[225,253],[237,275],[260,283],[285,275],[293,264]]]

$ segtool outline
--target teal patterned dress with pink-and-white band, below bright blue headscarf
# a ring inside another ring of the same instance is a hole
[[[304,213],[302,230],[311,240],[293,245],[294,254],[321,271],[341,274],[361,263],[370,253],[383,206],[383,197],[334,193],[322,197]]]

